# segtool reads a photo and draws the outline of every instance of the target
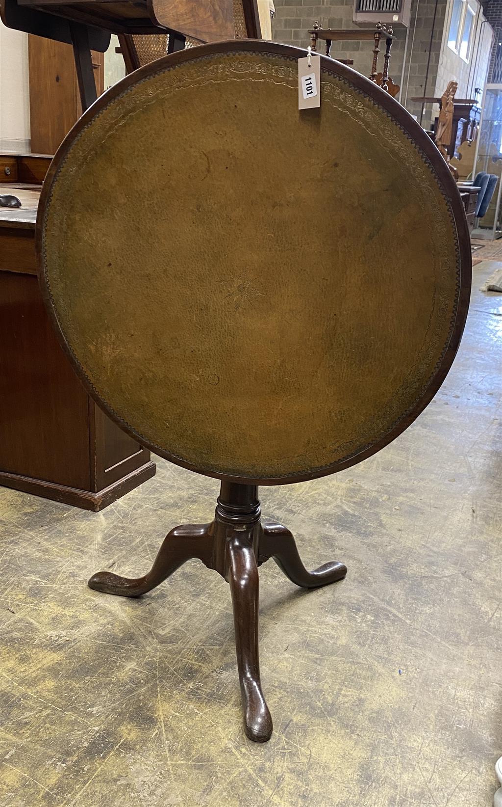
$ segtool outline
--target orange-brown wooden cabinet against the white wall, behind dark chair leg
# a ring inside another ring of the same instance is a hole
[[[92,51],[97,94],[105,86],[105,54]],[[28,37],[31,152],[54,154],[82,114],[71,45]]]

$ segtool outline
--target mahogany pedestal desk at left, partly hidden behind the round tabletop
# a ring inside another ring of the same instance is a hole
[[[0,208],[0,484],[101,510],[156,466],[89,397],[56,339],[36,278],[39,190],[1,187],[23,206]]]

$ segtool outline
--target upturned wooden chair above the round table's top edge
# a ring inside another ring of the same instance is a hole
[[[106,51],[118,34],[128,73],[152,58],[201,42],[259,39],[257,0],[0,0],[2,22],[73,44],[82,109],[97,98],[90,51]],[[147,42],[146,36],[156,36]]]

